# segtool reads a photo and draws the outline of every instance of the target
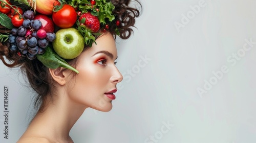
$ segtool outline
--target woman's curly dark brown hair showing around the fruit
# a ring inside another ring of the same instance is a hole
[[[111,2],[115,6],[115,9],[112,11],[113,14],[116,19],[120,20],[120,26],[118,27],[120,33],[119,37],[121,39],[127,39],[133,33],[132,27],[135,25],[135,18],[140,15],[141,4],[137,0],[135,0],[135,2],[138,4],[138,7],[131,7],[131,0],[112,0]],[[108,31],[116,38],[115,20],[112,22]],[[0,25],[0,33],[6,32],[10,32],[10,30]],[[44,111],[49,102],[47,101],[47,97],[52,95],[54,89],[53,80],[48,70],[49,68],[42,64],[37,58],[29,60],[25,56],[19,56],[17,52],[11,52],[9,46],[10,43],[8,41],[0,42],[0,59],[8,67],[20,66],[20,71],[27,76],[30,86],[37,93],[34,102],[35,108],[38,109],[39,112]],[[84,47],[84,50],[87,48],[88,46]],[[67,60],[67,62],[75,66],[76,59],[77,58]]]

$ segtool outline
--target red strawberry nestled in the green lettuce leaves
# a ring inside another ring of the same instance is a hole
[[[83,18],[86,18],[84,21]],[[98,32],[100,28],[99,19],[97,16],[92,15],[90,12],[83,13],[79,17],[80,25],[85,25],[87,28],[91,29],[92,32]]]

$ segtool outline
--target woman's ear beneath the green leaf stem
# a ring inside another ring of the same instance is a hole
[[[50,74],[53,78],[54,81],[56,81],[57,83],[59,83],[60,85],[65,85],[67,82],[67,70],[65,70],[66,68],[63,67],[58,67],[55,69],[51,69],[49,68]]]

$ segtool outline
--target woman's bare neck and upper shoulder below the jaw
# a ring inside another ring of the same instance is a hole
[[[55,97],[45,111],[35,115],[28,130],[34,130],[33,132],[51,140],[72,142],[69,132],[86,107],[71,102],[67,94]]]

